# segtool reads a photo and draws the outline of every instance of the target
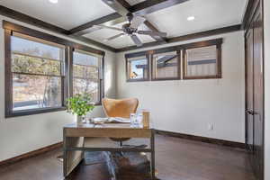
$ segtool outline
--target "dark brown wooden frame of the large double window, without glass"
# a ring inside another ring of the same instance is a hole
[[[87,47],[85,45],[78,44],[73,41],[65,40],[58,38],[57,36],[50,35],[45,32],[32,30],[27,27],[23,27],[21,25],[15,24],[15,23],[9,23],[6,21],[3,21],[3,28],[4,28],[4,117],[5,118],[11,118],[11,117],[17,117],[17,116],[23,116],[23,115],[32,115],[32,114],[40,114],[45,112],[58,112],[58,111],[65,111],[67,110],[66,107],[66,99],[70,96],[70,86],[72,87],[72,84],[70,82],[72,81],[72,50],[71,49],[82,49],[85,51],[88,51],[93,54],[101,55],[102,58],[102,77],[104,76],[104,56],[105,52],[103,50],[93,49],[90,47]],[[64,63],[65,63],[65,73],[61,76],[61,94],[62,94],[62,105],[61,107],[49,107],[49,108],[39,108],[39,109],[29,109],[29,110],[22,110],[22,111],[13,111],[13,74],[12,74],[12,36],[14,32],[19,32],[23,35],[27,35],[33,38],[37,38],[40,40],[47,40],[49,42],[53,42],[56,44],[59,44],[61,46],[64,46]],[[101,99],[104,96],[104,81],[103,78],[100,80],[100,94]],[[72,82],[71,82],[72,83]],[[100,99],[100,101],[101,101]],[[96,105],[100,105],[101,103],[96,103]]]

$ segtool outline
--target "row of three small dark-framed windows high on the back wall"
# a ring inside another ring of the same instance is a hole
[[[221,78],[221,44],[205,40],[126,54],[127,81]]]

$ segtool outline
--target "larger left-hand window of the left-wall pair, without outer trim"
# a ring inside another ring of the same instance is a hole
[[[63,106],[64,46],[14,32],[11,61],[12,112]]]

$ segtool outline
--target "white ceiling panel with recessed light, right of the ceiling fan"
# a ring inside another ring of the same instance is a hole
[[[241,23],[247,0],[190,0],[153,14],[148,21],[168,37],[207,31]],[[194,16],[192,22],[187,17]]]

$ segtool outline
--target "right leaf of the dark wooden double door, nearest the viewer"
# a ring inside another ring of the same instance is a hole
[[[256,174],[264,173],[264,67],[262,14],[258,11],[254,20],[254,153]]]

